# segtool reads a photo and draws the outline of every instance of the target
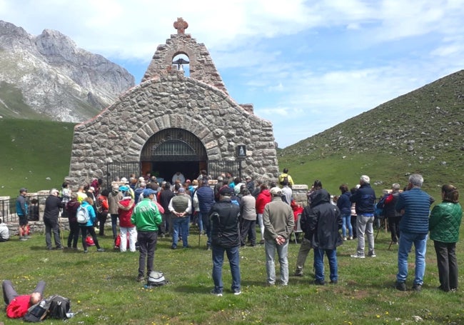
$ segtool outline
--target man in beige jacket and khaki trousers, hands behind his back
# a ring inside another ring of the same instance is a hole
[[[274,256],[278,254],[281,265],[281,285],[288,284],[288,239],[295,226],[293,210],[282,201],[282,190],[279,187],[271,189],[272,201],[264,206],[264,250],[266,251],[266,273],[268,285],[276,284],[276,269]]]

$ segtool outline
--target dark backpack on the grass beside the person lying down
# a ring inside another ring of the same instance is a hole
[[[26,314],[24,315],[25,321],[37,322],[43,321],[46,317],[55,319],[66,319],[70,318],[69,309],[71,308],[71,301],[54,294],[49,298],[42,299],[39,303],[29,307]]]

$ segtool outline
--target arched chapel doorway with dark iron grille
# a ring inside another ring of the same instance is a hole
[[[201,169],[208,166],[208,155],[203,143],[185,129],[164,129],[153,134],[141,151],[142,173],[151,172],[171,181],[177,171],[186,179],[196,179]]]

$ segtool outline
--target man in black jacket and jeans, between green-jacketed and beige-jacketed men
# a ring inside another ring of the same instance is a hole
[[[213,251],[213,281],[214,289],[211,294],[222,296],[222,266],[224,251],[231,266],[233,294],[241,294],[240,256],[240,207],[232,204],[233,189],[223,186],[219,191],[220,200],[216,202],[208,213],[211,219],[211,248]]]

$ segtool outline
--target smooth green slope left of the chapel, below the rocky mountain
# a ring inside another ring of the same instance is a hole
[[[74,124],[0,119],[0,195],[61,187],[69,173]]]

